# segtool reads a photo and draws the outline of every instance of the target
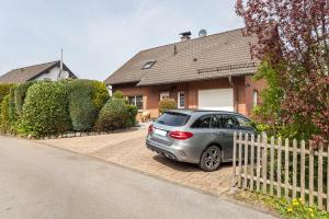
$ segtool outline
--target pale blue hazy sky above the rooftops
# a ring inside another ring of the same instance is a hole
[[[60,59],[105,80],[143,49],[243,26],[235,0],[0,0],[0,74]]]

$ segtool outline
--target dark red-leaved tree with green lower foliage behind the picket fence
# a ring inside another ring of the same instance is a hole
[[[329,3],[327,0],[237,0],[252,55],[276,72],[283,90],[280,131],[329,141]]]

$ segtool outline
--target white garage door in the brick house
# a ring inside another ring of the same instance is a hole
[[[234,90],[198,90],[198,108],[234,112]]]

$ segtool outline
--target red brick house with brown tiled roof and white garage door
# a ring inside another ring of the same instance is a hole
[[[263,81],[252,81],[258,61],[242,28],[190,38],[141,50],[105,83],[122,91],[139,112],[158,116],[161,99],[174,99],[179,108],[235,111],[250,115]]]

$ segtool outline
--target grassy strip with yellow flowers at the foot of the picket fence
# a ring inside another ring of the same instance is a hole
[[[329,212],[311,208],[303,204],[302,199],[287,200],[265,196],[259,193],[241,191],[234,195],[234,198],[262,207],[282,218],[288,219],[329,219]]]

